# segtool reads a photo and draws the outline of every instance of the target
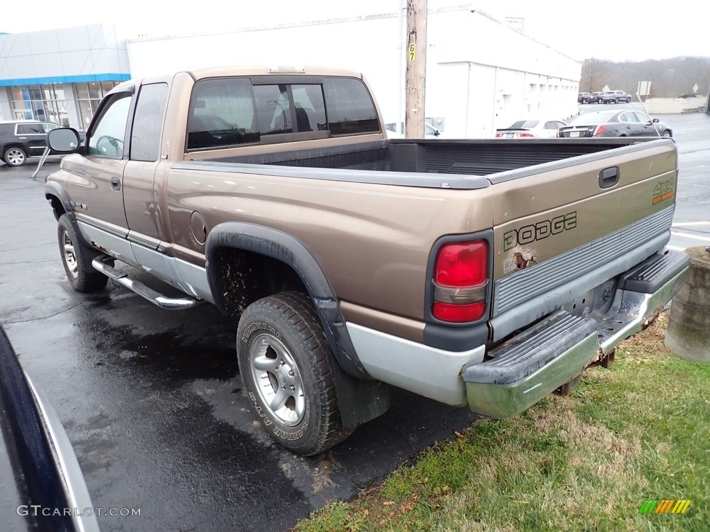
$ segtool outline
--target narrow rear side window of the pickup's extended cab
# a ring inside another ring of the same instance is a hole
[[[165,83],[154,83],[141,87],[131,131],[131,160],[150,162],[158,160],[160,126],[163,123],[163,110],[167,95],[168,84]]]

